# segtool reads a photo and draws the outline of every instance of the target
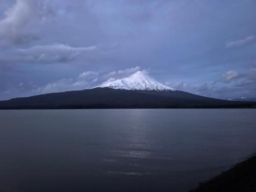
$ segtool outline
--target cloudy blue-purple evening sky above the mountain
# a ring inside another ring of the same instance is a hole
[[[0,100],[142,70],[177,90],[256,98],[254,0],[1,0]]]

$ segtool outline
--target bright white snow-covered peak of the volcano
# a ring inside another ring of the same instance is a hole
[[[101,84],[100,88],[124,89],[124,90],[156,90],[156,91],[175,91],[174,88],[165,86],[157,82],[152,77],[141,71],[137,71],[129,77],[117,79],[108,83]]]

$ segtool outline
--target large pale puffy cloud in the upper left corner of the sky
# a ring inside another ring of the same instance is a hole
[[[42,0],[17,0],[0,20],[0,42],[24,44],[38,39],[26,27],[35,18],[45,18],[48,11]]]

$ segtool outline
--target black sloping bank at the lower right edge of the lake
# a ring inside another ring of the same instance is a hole
[[[256,191],[256,156],[243,161],[190,192]]]

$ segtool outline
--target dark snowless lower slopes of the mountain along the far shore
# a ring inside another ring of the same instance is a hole
[[[256,102],[227,101],[183,91],[94,88],[0,101],[0,109],[256,108]]]

